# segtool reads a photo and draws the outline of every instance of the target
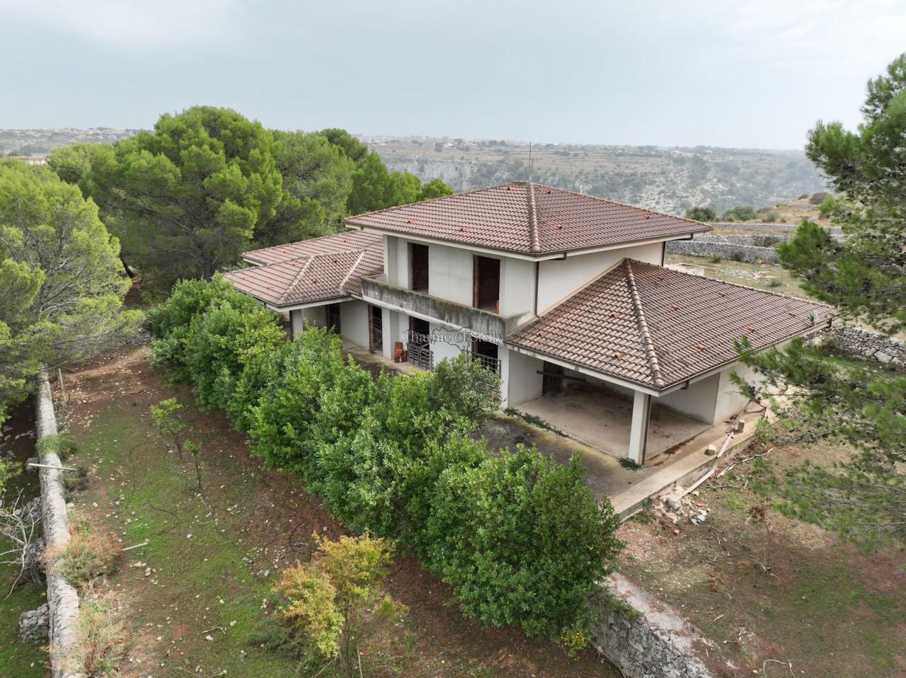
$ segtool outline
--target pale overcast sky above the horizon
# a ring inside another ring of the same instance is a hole
[[[268,127],[801,148],[859,121],[904,0],[0,0],[0,128]]]

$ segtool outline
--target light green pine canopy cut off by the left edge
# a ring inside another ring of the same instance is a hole
[[[134,331],[119,250],[77,187],[0,160],[0,420],[42,366],[84,360]]]

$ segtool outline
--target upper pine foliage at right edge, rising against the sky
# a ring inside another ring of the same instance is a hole
[[[805,289],[878,328],[906,328],[906,54],[868,83],[863,123],[848,131],[822,122],[806,155],[845,194],[824,207],[842,242],[805,223],[779,248]]]

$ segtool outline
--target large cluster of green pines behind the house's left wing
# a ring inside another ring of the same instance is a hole
[[[250,247],[335,232],[350,213],[452,192],[390,172],[347,131],[270,131],[211,106],[164,114],[112,146],[54,150],[48,164],[94,199],[125,257],[161,288],[209,280]]]

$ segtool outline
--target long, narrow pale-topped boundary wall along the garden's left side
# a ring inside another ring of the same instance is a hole
[[[53,447],[43,450],[40,442],[57,435],[56,414],[47,373],[38,375],[38,391],[34,396],[34,416],[38,432],[38,450],[42,467],[41,507],[44,543],[54,550],[69,544],[69,516],[63,487],[63,464]],[[47,468],[53,467],[53,468]],[[65,659],[76,643],[75,622],[79,614],[79,594],[66,579],[47,573],[47,604],[50,608],[51,667],[53,678],[82,678],[82,673],[69,671]]]

